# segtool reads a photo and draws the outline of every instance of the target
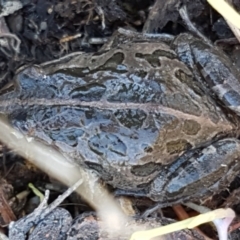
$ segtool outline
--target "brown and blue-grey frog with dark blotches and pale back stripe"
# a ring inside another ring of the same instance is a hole
[[[0,112],[121,194],[169,206],[239,173],[238,69],[188,33],[118,30],[96,53],[21,69]]]

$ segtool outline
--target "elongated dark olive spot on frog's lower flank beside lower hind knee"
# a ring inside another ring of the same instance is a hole
[[[160,172],[161,168],[161,164],[151,162],[144,165],[133,166],[131,173],[135,176],[146,177],[152,175],[154,172]]]

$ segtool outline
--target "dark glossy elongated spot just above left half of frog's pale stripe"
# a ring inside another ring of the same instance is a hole
[[[106,91],[104,85],[91,83],[85,86],[74,88],[69,95],[72,98],[78,98],[81,101],[98,101]]]

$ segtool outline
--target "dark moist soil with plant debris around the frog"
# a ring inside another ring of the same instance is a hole
[[[239,9],[239,1],[233,2]],[[188,32],[178,11],[183,5],[197,29],[226,50],[240,67],[239,43],[225,20],[204,0],[5,0],[0,1],[0,88],[11,82],[22,66],[50,61],[75,51],[96,52],[119,27],[172,35]],[[33,211],[39,204],[32,193],[21,201],[14,200],[16,194],[28,191],[28,183],[43,191],[47,184],[54,185],[52,199],[65,188],[5,146],[1,152],[0,226],[6,232],[10,221]],[[232,195],[229,191],[221,193],[214,206],[225,204],[240,213],[239,194],[236,194],[239,184],[240,180],[236,179],[230,187]],[[226,202],[225,198],[228,198]],[[72,196],[67,201],[81,200]],[[137,204],[136,207],[141,212],[151,204],[146,200],[144,207]],[[89,209],[84,203],[77,212]],[[73,207],[69,210],[74,211]],[[171,215],[171,211],[167,212]]]

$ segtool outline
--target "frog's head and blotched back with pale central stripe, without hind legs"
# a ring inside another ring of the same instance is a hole
[[[162,164],[235,129],[164,43],[135,42],[25,69],[2,111],[22,131],[136,189]]]

